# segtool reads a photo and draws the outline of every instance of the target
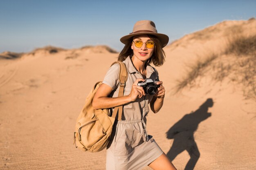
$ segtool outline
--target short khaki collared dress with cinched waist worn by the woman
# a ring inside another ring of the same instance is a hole
[[[133,66],[130,57],[127,57],[124,63],[128,71],[124,95],[129,95],[135,80],[143,77]],[[149,64],[146,71],[146,78],[158,78],[156,69]],[[111,97],[118,96],[119,64],[109,68],[103,83],[112,88]],[[135,102],[124,105],[122,120],[114,125],[107,147],[106,170],[139,170],[162,155],[163,151],[146,130],[148,104],[152,98],[153,95],[145,95]]]

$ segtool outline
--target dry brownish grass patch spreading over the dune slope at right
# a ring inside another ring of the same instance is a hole
[[[177,80],[175,93],[182,91],[185,87],[196,86],[196,79],[211,75],[215,82],[229,79],[241,85],[245,99],[256,100],[256,35],[237,35],[228,38],[225,51],[219,55],[209,54],[204,60],[197,60],[189,66],[186,76]]]

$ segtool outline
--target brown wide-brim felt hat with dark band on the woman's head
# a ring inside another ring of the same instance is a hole
[[[124,44],[127,44],[130,42],[130,38],[132,38],[135,35],[142,35],[142,34],[155,35],[161,42],[162,47],[166,46],[169,41],[169,37],[167,35],[157,33],[157,29],[155,28],[155,23],[149,20],[141,20],[136,22],[133,26],[132,33],[120,38],[120,41]]]

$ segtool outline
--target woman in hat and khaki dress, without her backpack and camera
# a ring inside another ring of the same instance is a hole
[[[148,165],[154,170],[176,170],[159,148],[152,136],[146,131],[148,104],[157,113],[164,102],[164,86],[159,85],[154,95],[148,95],[138,82],[146,78],[158,79],[158,73],[149,63],[161,66],[164,63],[163,47],[168,36],[157,33],[155,24],[149,20],[135,23],[132,33],[120,39],[125,44],[118,60],[126,64],[128,79],[124,96],[117,97],[119,91],[119,64],[108,70],[103,84],[94,96],[92,106],[112,108],[124,106],[121,121],[113,126],[110,144],[107,147],[107,170],[138,170]]]

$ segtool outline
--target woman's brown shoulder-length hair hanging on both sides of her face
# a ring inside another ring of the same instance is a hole
[[[155,66],[162,66],[165,61],[165,53],[161,46],[160,41],[158,38],[156,38],[154,35],[148,35],[148,37],[155,43],[155,48],[153,51],[153,55],[150,57],[150,59],[147,60],[148,64],[153,62]],[[132,38],[129,39],[128,43],[125,44],[124,48],[120,52],[118,56],[118,61],[122,62],[126,60],[126,58],[130,55],[133,55],[133,51],[131,49],[132,44]]]

